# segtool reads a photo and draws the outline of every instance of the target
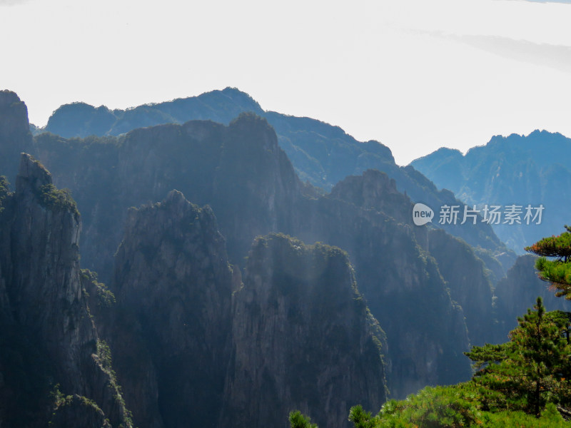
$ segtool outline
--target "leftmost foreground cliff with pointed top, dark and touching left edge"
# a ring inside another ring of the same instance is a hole
[[[130,426],[111,367],[100,360],[79,280],[74,201],[22,154],[16,193],[1,205],[0,424],[45,426],[54,405],[49,391],[59,384],[66,394],[97,402],[113,426]]]

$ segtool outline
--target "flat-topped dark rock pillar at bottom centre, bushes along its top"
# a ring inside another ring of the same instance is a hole
[[[383,342],[345,253],[258,238],[233,296],[222,426],[279,427],[293,409],[320,426],[348,426],[352,405],[385,401]]]

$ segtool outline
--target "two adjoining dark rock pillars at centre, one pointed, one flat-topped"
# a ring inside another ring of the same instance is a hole
[[[173,190],[129,211],[111,288],[103,335],[140,427],[278,427],[294,408],[344,427],[386,399],[385,336],[339,249],[258,238],[242,284],[212,210]]]

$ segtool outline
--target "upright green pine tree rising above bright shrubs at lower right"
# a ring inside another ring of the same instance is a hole
[[[539,417],[547,402],[571,402],[571,345],[565,312],[545,312],[541,297],[517,319],[510,342],[466,352],[478,369],[474,382],[490,408],[522,409]]]

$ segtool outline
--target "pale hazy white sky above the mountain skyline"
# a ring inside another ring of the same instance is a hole
[[[571,1],[0,0],[0,88],[44,126],[235,86],[403,165],[536,128],[571,137]]]

